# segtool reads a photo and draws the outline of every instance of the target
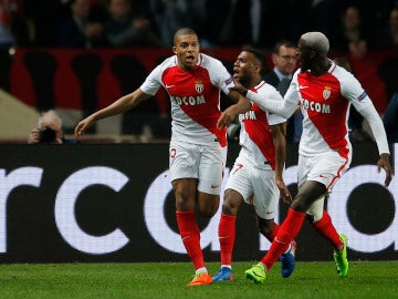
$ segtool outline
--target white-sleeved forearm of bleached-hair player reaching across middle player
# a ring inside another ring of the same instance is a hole
[[[245,97],[256,103],[262,110],[270,111],[284,118],[292,116],[294,111],[297,109],[297,105],[294,103],[264,99],[262,95],[252,91],[248,91]]]

